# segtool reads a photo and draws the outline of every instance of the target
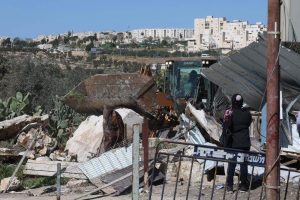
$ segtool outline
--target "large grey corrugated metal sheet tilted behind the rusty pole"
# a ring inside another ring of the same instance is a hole
[[[221,59],[202,74],[222,87],[227,95],[240,93],[255,109],[261,107],[266,87],[267,44],[264,38],[250,44],[229,57]],[[281,47],[279,55],[284,100],[289,102],[300,92],[300,55]],[[294,108],[300,108],[295,104]]]

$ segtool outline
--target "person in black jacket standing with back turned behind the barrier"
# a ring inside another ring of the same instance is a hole
[[[240,150],[250,150],[251,142],[249,136],[249,126],[252,121],[248,109],[243,108],[243,97],[240,94],[234,94],[231,98],[231,108],[225,111],[223,127],[226,127],[232,133],[231,148]],[[229,163],[227,169],[227,191],[233,191],[233,175],[235,172],[235,163]],[[247,191],[247,164],[241,164],[241,191]]]

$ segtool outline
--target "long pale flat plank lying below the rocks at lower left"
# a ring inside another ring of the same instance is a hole
[[[35,176],[55,176],[57,172],[57,163],[61,163],[62,177],[87,179],[87,177],[79,169],[79,163],[75,162],[28,160],[23,173]]]

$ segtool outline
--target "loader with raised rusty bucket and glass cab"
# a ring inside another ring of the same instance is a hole
[[[174,116],[184,112],[187,101],[206,108],[211,106],[217,87],[201,76],[201,69],[214,62],[167,60],[161,69],[165,70],[161,88],[156,86],[149,66],[140,73],[94,75],[66,94],[63,101],[78,112],[103,114],[105,135],[111,132],[108,122],[113,110],[120,107],[130,108],[163,125],[165,116],[169,119],[173,116],[174,122]]]

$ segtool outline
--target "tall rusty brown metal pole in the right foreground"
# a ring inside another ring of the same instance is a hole
[[[265,188],[267,200],[280,199],[279,44],[280,0],[268,0],[267,142]]]

